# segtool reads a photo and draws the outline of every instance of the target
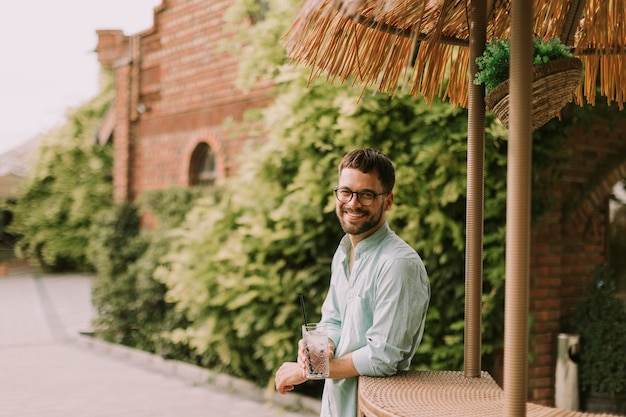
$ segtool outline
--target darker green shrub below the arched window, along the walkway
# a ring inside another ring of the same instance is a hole
[[[157,220],[155,231],[140,229],[138,207],[115,206],[94,224],[90,259],[96,267],[93,303],[96,334],[104,340],[194,361],[183,344],[171,343],[163,332],[187,322],[165,300],[166,287],[153,278],[170,250],[168,233],[178,226],[199,190],[172,187],[140,198],[144,211]]]

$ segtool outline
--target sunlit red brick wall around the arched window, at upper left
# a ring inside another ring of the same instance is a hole
[[[224,131],[227,119],[269,102],[269,83],[248,92],[235,87],[237,57],[222,51],[223,15],[233,0],[166,0],[154,26],[125,37],[99,31],[98,57],[116,67],[115,198],[189,184],[191,154],[206,142],[225,176],[248,138]],[[117,42],[116,42],[117,41]],[[117,55],[117,59],[115,54]]]

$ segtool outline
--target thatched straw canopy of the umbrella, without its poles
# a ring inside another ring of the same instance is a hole
[[[427,100],[468,105],[470,15],[477,1],[306,0],[287,34],[287,49],[315,74],[393,93],[406,85]],[[511,0],[486,0],[486,40],[511,36]],[[528,1],[527,3],[530,3]],[[584,95],[601,94],[620,108],[626,99],[626,6],[620,0],[533,0],[527,29],[558,37],[580,56]],[[531,7],[530,4],[526,5]],[[472,42],[477,42],[475,31]],[[417,55],[415,53],[417,52]],[[410,71],[409,71],[410,69]]]

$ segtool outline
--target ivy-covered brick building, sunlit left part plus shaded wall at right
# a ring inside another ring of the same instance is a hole
[[[114,68],[116,99],[99,132],[115,149],[115,199],[170,185],[210,182],[236,169],[247,138],[226,119],[269,103],[269,84],[234,86],[236,56],[220,50],[223,14],[233,0],[163,0],[154,25],[126,36],[98,31],[98,59]],[[569,133],[571,154],[553,190],[555,208],[532,235],[534,317],[529,400],[553,404],[556,341],[594,267],[606,261],[607,198],[626,178],[626,115],[609,107],[590,129]]]

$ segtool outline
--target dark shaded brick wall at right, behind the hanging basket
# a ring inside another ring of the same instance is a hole
[[[533,226],[529,398],[546,405],[554,404],[557,336],[571,332],[575,305],[606,262],[607,198],[626,178],[626,117],[617,107],[594,112],[589,126],[568,132],[568,162],[552,190],[557,204]]]

